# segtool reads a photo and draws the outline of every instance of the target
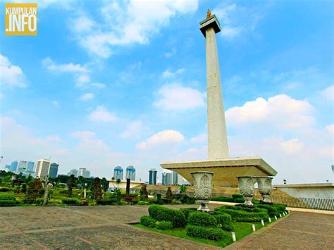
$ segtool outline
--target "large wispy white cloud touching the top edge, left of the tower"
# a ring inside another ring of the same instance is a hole
[[[82,25],[70,25],[70,28],[79,44],[87,51],[108,58],[113,54],[112,46],[147,44],[151,36],[168,25],[175,15],[192,13],[197,8],[197,0],[111,2],[101,8],[101,23],[90,20],[85,15],[70,22],[85,20],[88,25],[97,23],[94,29],[87,32]]]

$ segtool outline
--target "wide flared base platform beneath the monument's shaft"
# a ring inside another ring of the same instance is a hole
[[[214,187],[237,187],[237,176],[275,176],[276,170],[259,157],[221,158],[204,161],[184,161],[176,163],[161,163],[162,168],[173,170],[192,183],[193,171],[214,172],[212,179]]]

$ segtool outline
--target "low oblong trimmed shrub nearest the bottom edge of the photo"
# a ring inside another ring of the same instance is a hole
[[[218,227],[200,227],[197,225],[187,225],[185,227],[187,235],[202,239],[220,240],[223,238],[223,230]]]

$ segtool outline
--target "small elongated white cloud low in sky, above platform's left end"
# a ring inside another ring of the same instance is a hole
[[[161,144],[180,144],[185,137],[176,130],[163,130],[149,137],[146,141],[136,145],[137,149],[150,149]]]

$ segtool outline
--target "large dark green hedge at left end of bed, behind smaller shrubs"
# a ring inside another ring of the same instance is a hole
[[[181,211],[159,205],[149,206],[149,215],[154,220],[171,221],[173,227],[184,227],[186,222],[185,215]]]

